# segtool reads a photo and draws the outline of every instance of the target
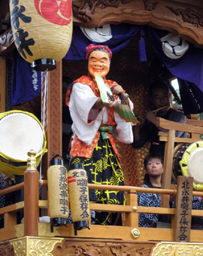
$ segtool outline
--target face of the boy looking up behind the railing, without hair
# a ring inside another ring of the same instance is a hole
[[[159,158],[151,158],[146,166],[145,172],[149,176],[159,176],[162,175],[163,165]]]

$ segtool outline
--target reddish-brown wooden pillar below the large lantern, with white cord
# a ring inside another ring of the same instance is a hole
[[[48,151],[42,159],[42,175],[47,179],[50,159],[56,154],[62,155],[62,61],[56,63],[55,70],[48,72],[47,90],[43,78],[41,123],[43,120]],[[47,187],[42,187],[41,197],[47,200]],[[47,215],[47,209],[42,209],[41,215]]]

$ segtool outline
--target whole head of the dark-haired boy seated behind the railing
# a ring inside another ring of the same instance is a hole
[[[148,154],[144,159],[144,170],[149,176],[161,176],[163,172],[163,161],[160,154]]]

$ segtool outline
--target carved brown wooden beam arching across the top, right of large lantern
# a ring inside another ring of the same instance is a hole
[[[184,3],[185,2],[185,3]],[[194,2],[194,1],[193,1]],[[191,0],[73,0],[74,24],[132,23],[166,29],[203,47],[203,2]],[[201,8],[200,8],[201,7]]]

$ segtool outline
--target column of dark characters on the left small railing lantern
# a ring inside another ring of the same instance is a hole
[[[59,189],[61,190],[59,205],[61,206],[60,211],[63,215],[68,212],[68,186],[66,178],[66,169],[64,166],[59,168],[60,170],[60,179],[59,179]]]

